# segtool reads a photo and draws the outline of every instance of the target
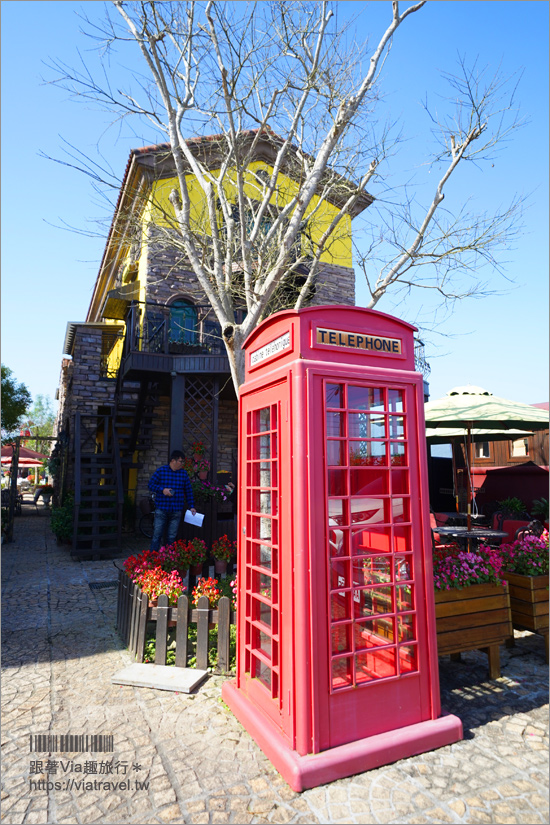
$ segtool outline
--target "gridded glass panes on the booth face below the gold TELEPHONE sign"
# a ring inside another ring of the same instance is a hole
[[[325,384],[332,691],[418,671],[405,391]]]

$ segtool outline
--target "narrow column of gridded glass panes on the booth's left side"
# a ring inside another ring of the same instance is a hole
[[[278,409],[247,415],[245,672],[279,697]]]

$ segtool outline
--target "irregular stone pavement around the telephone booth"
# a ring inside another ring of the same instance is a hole
[[[194,695],[111,684],[131,661],[116,590],[89,584],[115,573],[112,561],[71,561],[45,510],[18,518],[2,547],[3,822],[548,822],[542,638],[516,634],[494,681],[481,653],[440,659],[462,742],[298,794],[221,702],[222,677]],[[31,753],[29,734],[47,733],[112,733],[114,753]],[[126,784],[98,785],[107,781]]]

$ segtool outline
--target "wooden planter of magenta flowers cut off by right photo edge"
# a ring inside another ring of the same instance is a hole
[[[501,545],[512,623],[544,636],[548,661],[548,530]]]

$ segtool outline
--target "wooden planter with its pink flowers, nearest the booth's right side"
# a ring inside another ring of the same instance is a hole
[[[439,655],[482,648],[491,679],[500,676],[499,645],[513,635],[510,593],[500,548],[475,553],[456,545],[434,550],[434,587]]]

